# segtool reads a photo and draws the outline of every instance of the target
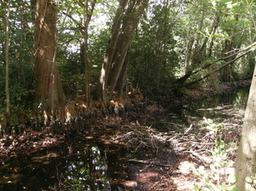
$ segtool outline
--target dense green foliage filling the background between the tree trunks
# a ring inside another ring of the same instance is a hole
[[[1,1],[2,5],[6,2]],[[117,4],[113,2],[55,2],[58,7],[57,63],[67,97],[82,96],[85,90],[90,90],[90,97],[94,96],[117,14]],[[1,6],[2,109],[5,107],[3,21],[6,9]],[[12,107],[32,107],[33,103],[37,80],[33,78],[34,10],[30,1],[10,2],[9,91]],[[133,33],[115,90],[119,94],[133,90],[148,97],[170,96],[173,90],[196,81],[218,86],[218,83],[252,78],[255,59],[250,50],[253,47],[246,49],[249,51],[239,60],[236,58],[244,53],[240,50],[255,41],[254,12],[255,2],[249,0],[149,1]],[[86,23],[89,16],[90,22]],[[88,34],[83,31],[86,24],[89,25]],[[87,62],[81,52],[83,42],[86,42]],[[218,70],[227,63],[229,65]],[[84,88],[85,78],[90,89]]]

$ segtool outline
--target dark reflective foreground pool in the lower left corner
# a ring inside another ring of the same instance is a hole
[[[17,156],[1,165],[0,190],[111,190],[105,156],[90,142]]]

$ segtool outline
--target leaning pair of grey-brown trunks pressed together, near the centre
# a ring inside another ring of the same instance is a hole
[[[104,101],[112,99],[132,34],[147,6],[148,0],[119,1],[119,8],[113,20],[110,43],[102,64],[100,83],[97,87],[97,96]]]

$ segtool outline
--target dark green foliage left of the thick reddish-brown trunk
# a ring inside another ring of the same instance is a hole
[[[27,1],[11,1],[9,17],[9,96],[12,107],[32,105],[32,11]],[[1,7],[3,9],[3,7]],[[3,29],[3,25],[0,25]],[[0,42],[4,36],[1,33]],[[5,107],[5,49],[0,53],[0,107]]]

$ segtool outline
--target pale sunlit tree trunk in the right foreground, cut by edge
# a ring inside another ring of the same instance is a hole
[[[241,142],[237,152],[236,187],[240,190],[256,190],[256,67],[243,120]]]

